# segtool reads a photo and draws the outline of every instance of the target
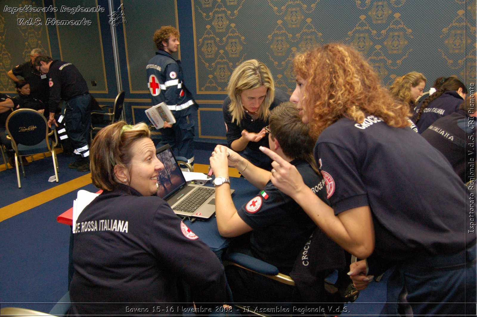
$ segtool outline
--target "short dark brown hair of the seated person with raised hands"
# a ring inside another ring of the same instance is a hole
[[[301,121],[300,113],[292,102],[282,102],[270,112],[270,136],[277,139],[285,155],[291,159],[307,161],[315,167],[310,136],[310,125]]]

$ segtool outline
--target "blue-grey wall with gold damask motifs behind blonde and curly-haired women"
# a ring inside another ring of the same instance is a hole
[[[445,75],[476,81],[476,0],[191,0],[197,93],[225,93],[242,61],[270,68],[291,92],[291,60],[317,44],[361,51],[384,85],[407,72],[430,83]]]

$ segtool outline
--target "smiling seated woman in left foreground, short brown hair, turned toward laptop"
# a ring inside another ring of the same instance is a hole
[[[93,184],[103,193],[73,228],[69,314],[124,315],[126,307],[162,303],[163,311],[139,311],[174,315],[176,308],[166,307],[180,302],[179,279],[190,287],[197,307],[222,307],[226,283],[218,257],[154,195],[164,165],[147,125],[108,125],[93,139],[90,157]]]

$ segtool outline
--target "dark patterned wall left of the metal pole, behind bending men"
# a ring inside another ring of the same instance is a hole
[[[103,39],[100,19],[100,15],[106,17],[107,24],[109,10],[106,0],[2,0],[0,3],[1,92],[16,93],[7,72],[18,64],[30,61],[31,50],[40,48],[53,60],[72,62],[82,73],[90,92],[110,93],[107,73],[111,74],[111,63],[106,61],[109,56],[105,55],[104,41],[110,43],[111,40]],[[26,6],[48,10],[37,12],[31,7],[27,12],[11,10]],[[62,6],[73,9],[78,6],[99,7],[102,11],[72,13],[62,11]],[[6,8],[10,8],[10,11]],[[58,25],[55,20],[87,23]],[[109,43],[107,43],[108,51],[111,46]],[[109,52],[106,54],[110,55]],[[95,86],[92,82],[95,82]],[[115,95],[115,89],[112,92]]]

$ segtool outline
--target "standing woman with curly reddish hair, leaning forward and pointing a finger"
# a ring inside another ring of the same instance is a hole
[[[475,315],[476,235],[465,225],[470,193],[446,158],[409,128],[408,104],[381,87],[350,46],[317,47],[293,65],[290,101],[317,139],[314,156],[331,207],[293,165],[260,148],[274,160],[272,183],[336,243],[367,259],[350,266],[358,289],[395,266],[381,315],[457,316],[466,308]]]

